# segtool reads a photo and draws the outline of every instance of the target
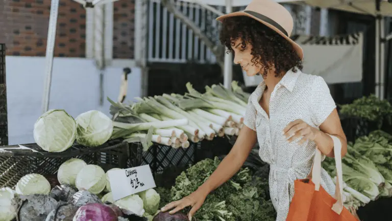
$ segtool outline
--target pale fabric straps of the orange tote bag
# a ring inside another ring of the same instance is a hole
[[[329,135],[333,140],[333,150],[336,164],[336,189],[335,189],[335,199],[336,203],[332,206],[332,210],[337,214],[343,210],[343,178],[341,171],[341,142],[339,138]],[[314,190],[318,191],[320,189],[321,182],[321,152],[316,148],[313,168],[312,168],[312,182],[314,183]]]

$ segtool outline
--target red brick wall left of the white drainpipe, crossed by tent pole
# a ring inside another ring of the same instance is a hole
[[[0,2],[0,42],[7,55],[45,56],[51,0]],[[3,10],[3,11],[1,11]],[[85,56],[86,13],[71,0],[60,0],[55,56]]]

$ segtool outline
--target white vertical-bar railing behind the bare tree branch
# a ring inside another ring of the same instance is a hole
[[[217,44],[217,14],[197,4],[174,1],[183,14],[199,26]],[[224,11],[224,7],[216,7]],[[189,60],[201,63],[215,63],[216,58],[199,37],[193,34],[179,19],[163,7],[159,0],[148,5],[148,61],[183,63]],[[214,33],[214,34],[212,34]]]

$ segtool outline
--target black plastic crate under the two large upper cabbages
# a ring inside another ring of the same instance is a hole
[[[4,146],[0,149],[17,146]],[[56,185],[58,168],[71,158],[79,158],[87,164],[98,165],[105,171],[114,167],[139,166],[142,151],[140,145],[130,145],[121,140],[109,141],[98,147],[75,144],[59,153],[46,152],[37,144],[23,144],[23,146],[37,150],[37,152],[26,149],[0,152],[0,187],[13,188],[22,176],[29,173],[42,174],[51,185]]]

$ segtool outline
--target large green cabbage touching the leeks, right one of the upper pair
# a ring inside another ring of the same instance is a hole
[[[76,141],[85,146],[100,146],[110,139],[112,120],[99,111],[88,111],[76,118],[78,133]]]

